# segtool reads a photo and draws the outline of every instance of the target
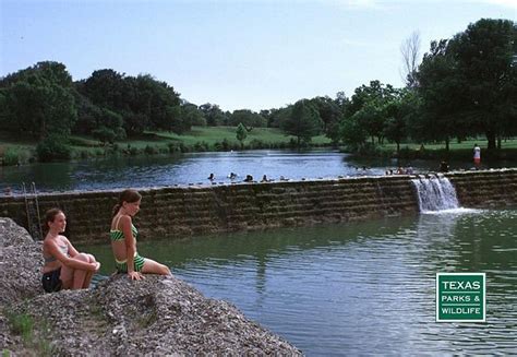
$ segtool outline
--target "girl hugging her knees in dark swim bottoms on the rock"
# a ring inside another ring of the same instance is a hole
[[[45,265],[41,284],[45,291],[89,287],[92,276],[99,270],[100,263],[92,254],[77,252],[67,237],[60,235],[67,228],[67,217],[61,210],[47,211],[45,223],[48,227],[43,243]]]

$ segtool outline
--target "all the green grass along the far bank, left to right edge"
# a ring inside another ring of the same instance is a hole
[[[296,138],[285,135],[275,128],[254,128],[248,133],[242,145],[236,138],[235,127],[193,127],[182,135],[172,132],[145,132],[139,138],[118,141],[105,145],[98,140],[85,135],[70,138],[71,157],[89,158],[107,155],[154,155],[176,154],[207,151],[238,151],[258,148],[289,148],[296,146]],[[311,145],[329,145],[330,141],[318,135],[313,138]],[[444,143],[420,144],[404,143],[397,154],[396,144],[376,145],[373,150],[361,153],[360,156],[399,157],[404,159],[461,159],[472,158],[472,148],[479,144],[483,159],[517,157],[517,140],[503,141],[503,150],[489,153],[486,140],[466,140],[460,143],[452,142],[449,151],[445,151]],[[36,142],[14,140],[12,135],[0,133],[0,165],[16,165],[36,160]]]

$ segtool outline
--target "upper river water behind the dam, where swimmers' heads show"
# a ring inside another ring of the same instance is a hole
[[[437,170],[440,163],[412,160],[397,163],[396,159],[354,159],[337,151],[243,151],[192,153],[164,156],[112,156],[99,159],[36,163],[14,167],[0,166],[0,190],[11,188],[21,191],[22,182],[36,183],[39,191],[105,190],[121,188],[144,188],[187,186],[189,183],[229,183],[230,172],[242,181],[247,175],[261,180],[279,180],[281,176],[291,180],[337,178],[339,176],[384,175],[386,169],[398,165],[411,165],[416,171]],[[471,163],[452,162],[452,168],[469,169]],[[505,163],[500,163],[503,165]],[[507,164],[507,163],[506,163]],[[497,167],[497,166],[491,166]]]

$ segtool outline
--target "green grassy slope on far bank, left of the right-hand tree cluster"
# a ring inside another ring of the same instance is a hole
[[[0,133],[0,160],[2,165],[16,165],[36,159],[36,142],[13,140]],[[254,128],[241,143],[236,138],[235,127],[193,127],[182,135],[172,132],[145,132],[139,138],[103,144],[86,135],[70,136],[71,157],[88,158],[112,154],[173,154],[206,151],[288,148],[296,145],[296,138],[285,135],[275,128]],[[329,145],[324,135],[313,138],[311,145]]]

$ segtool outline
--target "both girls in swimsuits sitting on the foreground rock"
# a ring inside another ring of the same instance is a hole
[[[139,231],[133,225],[133,217],[140,211],[141,201],[142,195],[137,191],[122,191],[112,210],[109,230],[117,273],[128,274],[129,278],[135,281],[144,278],[143,274],[170,274],[167,265],[144,258],[136,250]],[[45,225],[48,229],[43,242],[41,284],[45,291],[88,288],[93,275],[100,269],[100,263],[94,255],[79,252],[62,235],[67,228],[63,211],[47,211]]]

